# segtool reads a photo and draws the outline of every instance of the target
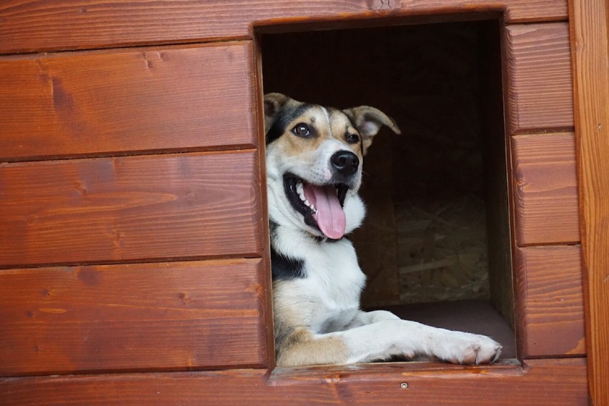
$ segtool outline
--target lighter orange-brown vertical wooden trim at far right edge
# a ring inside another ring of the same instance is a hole
[[[590,395],[609,405],[609,4],[569,10]]]

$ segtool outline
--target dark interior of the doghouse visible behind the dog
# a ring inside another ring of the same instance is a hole
[[[395,21],[394,21],[395,23]],[[515,357],[500,21],[262,34],[264,92],[395,119],[365,157],[350,238],[382,307]],[[280,30],[279,30],[280,31]]]

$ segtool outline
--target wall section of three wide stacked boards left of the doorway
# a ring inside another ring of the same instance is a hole
[[[272,362],[253,61],[0,58],[0,375]]]

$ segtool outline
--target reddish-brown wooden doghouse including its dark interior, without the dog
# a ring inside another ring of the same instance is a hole
[[[0,403],[609,402],[606,8],[4,1]],[[363,305],[499,362],[275,367],[267,91],[396,119]]]

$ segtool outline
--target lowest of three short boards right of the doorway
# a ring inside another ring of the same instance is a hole
[[[518,354],[585,355],[580,247],[517,248],[515,262]]]

